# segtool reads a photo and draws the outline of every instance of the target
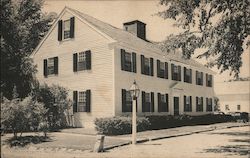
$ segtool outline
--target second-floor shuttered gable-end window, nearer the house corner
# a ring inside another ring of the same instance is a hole
[[[91,51],[73,54],[73,71],[91,70]]]

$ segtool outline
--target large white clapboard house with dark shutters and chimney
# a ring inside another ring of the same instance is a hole
[[[76,127],[131,114],[128,92],[140,87],[138,115],[203,115],[213,112],[213,74],[146,40],[146,24],[116,28],[65,7],[32,54],[40,83],[58,84],[74,101]]]

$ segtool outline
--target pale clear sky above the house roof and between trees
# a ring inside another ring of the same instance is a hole
[[[43,11],[59,14],[65,6],[89,14],[118,28],[122,28],[124,22],[140,20],[147,24],[146,36],[151,41],[162,41],[166,36],[178,34],[181,31],[173,26],[173,20],[164,20],[155,15],[165,8],[159,5],[157,0],[45,0]],[[249,52],[249,49],[245,50],[242,55],[243,66],[240,70],[240,77],[250,76]],[[203,63],[204,60],[199,62]],[[215,75],[215,82],[223,82],[233,78],[233,76],[229,76],[228,71],[220,74],[216,68],[212,70],[218,72]]]

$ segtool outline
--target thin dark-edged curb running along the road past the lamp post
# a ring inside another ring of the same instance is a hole
[[[155,141],[155,140],[161,140],[161,139],[166,139],[166,138],[175,138],[175,137],[181,137],[181,136],[187,136],[187,135],[192,135],[192,134],[210,132],[210,131],[215,131],[215,130],[220,130],[220,129],[228,129],[228,128],[235,128],[235,127],[245,127],[245,126],[250,126],[250,124],[232,125],[232,126],[225,126],[225,127],[222,127],[222,128],[211,127],[210,129],[206,129],[206,130],[198,130],[198,131],[193,131],[193,132],[186,132],[186,133],[180,133],[180,134],[174,134],[174,135],[168,135],[168,136],[160,136],[160,137],[155,137],[155,138],[143,138],[141,140],[137,140],[136,142],[139,144],[139,143],[145,143],[145,142],[148,142],[148,141]],[[104,151],[114,149],[116,147],[130,145],[130,144],[132,144],[131,141],[126,142],[126,143],[121,143],[121,144],[118,144],[118,145],[111,145],[111,146],[108,146],[108,147],[104,147]]]

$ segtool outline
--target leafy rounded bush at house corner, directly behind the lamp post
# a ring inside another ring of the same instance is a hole
[[[96,130],[100,134],[120,135],[132,132],[131,117],[107,117],[95,119]],[[150,123],[145,117],[137,117],[137,131],[145,131]]]

